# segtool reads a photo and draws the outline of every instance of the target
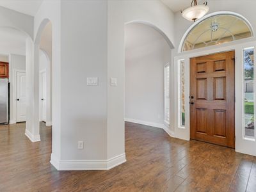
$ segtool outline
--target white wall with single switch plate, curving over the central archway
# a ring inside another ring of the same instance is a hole
[[[118,86],[108,84],[108,158],[125,152],[124,26],[135,20],[152,24],[174,40],[174,15],[161,1],[108,1],[108,82],[118,79]]]

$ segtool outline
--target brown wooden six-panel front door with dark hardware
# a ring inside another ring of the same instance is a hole
[[[190,60],[190,136],[235,147],[235,52]]]

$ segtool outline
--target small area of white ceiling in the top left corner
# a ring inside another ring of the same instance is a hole
[[[0,0],[0,6],[26,15],[35,16],[42,2],[43,0]]]

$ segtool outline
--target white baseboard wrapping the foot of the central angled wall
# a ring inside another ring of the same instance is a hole
[[[51,154],[51,164],[59,171],[110,170],[126,162],[125,153],[108,160],[59,160]]]

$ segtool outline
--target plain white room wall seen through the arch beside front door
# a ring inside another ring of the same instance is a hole
[[[125,120],[164,124],[164,65],[171,49],[156,29],[125,26]]]

